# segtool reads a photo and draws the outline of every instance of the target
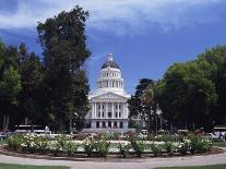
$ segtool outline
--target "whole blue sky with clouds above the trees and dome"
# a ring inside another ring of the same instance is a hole
[[[91,88],[112,52],[132,94],[142,77],[158,80],[174,62],[226,44],[226,0],[1,0],[0,37],[41,52],[37,22],[75,4],[90,11],[86,63]]]

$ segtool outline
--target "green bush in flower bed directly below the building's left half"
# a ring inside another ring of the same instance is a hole
[[[95,142],[95,149],[96,153],[100,156],[100,157],[106,157],[108,154],[110,147],[110,142],[107,142],[106,140],[97,140]]]

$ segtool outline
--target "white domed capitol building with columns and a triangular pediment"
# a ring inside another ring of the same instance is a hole
[[[91,110],[86,116],[91,129],[128,129],[128,95],[119,65],[108,55],[97,79],[97,89],[88,95]]]

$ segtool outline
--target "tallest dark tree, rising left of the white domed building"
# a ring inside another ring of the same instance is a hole
[[[44,84],[46,92],[46,111],[55,130],[70,130],[72,117],[76,109],[87,107],[84,98],[78,97],[86,94],[87,87],[82,87],[76,93],[78,75],[87,58],[90,51],[86,48],[85,22],[88,12],[75,7],[70,12],[61,12],[45,23],[38,23],[37,32],[44,48]],[[86,79],[86,74],[82,75]],[[85,82],[84,85],[87,85]],[[87,100],[87,95],[85,96]],[[81,102],[76,105],[76,102]],[[79,108],[78,108],[79,107]],[[84,117],[87,109],[81,109],[79,116]],[[83,118],[80,118],[83,119]],[[78,124],[75,124],[78,125]]]

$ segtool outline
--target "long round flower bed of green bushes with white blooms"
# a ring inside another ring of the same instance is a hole
[[[174,156],[201,154],[210,152],[213,143],[207,138],[195,135],[183,137],[180,141],[142,141],[129,137],[128,141],[108,141],[104,136],[86,137],[84,141],[74,141],[67,135],[55,140],[45,136],[26,134],[9,137],[8,147],[24,154],[47,154],[52,156],[75,156],[82,154],[87,157],[106,157],[115,154],[120,157],[143,156]]]

